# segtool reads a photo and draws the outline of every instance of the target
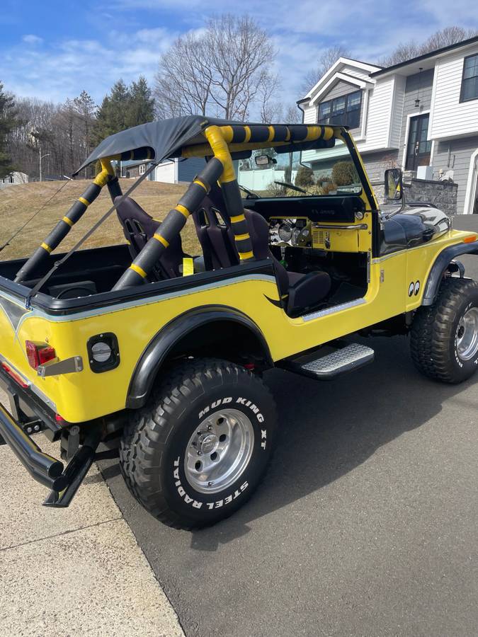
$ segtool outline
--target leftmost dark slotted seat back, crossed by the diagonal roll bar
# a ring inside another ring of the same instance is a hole
[[[115,198],[115,203],[119,198]],[[116,212],[125,238],[129,241],[131,258],[135,259],[157,231],[161,222],[150,217],[131,197],[125,197],[118,205]],[[154,265],[149,278],[161,280],[181,276],[179,267],[183,263],[183,256],[181,236],[177,236],[169,243],[159,261]]]

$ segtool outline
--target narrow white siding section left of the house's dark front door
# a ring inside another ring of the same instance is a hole
[[[359,145],[360,151],[378,150],[388,147],[393,94],[393,76],[383,80],[377,79],[377,84],[370,91],[365,143]]]

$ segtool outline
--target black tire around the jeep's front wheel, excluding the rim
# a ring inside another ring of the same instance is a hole
[[[477,282],[450,277],[443,280],[433,305],[416,311],[411,326],[411,357],[426,377],[457,384],[478,369],[478,353],[462,360],[457,351],[460,321],[472,307],[478,307]]]

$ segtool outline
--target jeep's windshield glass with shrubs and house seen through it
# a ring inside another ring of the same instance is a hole
[[[268,160],[263,159],[266,155]],[[258,156],[261,165],[256,163]],[[358,173],[344,144],[302,154],[278,154],[273,148],[261,149],[253,151],[249,159],[239,160],[238,164],[239,185],[260,197],[343,196],[358,195],[362,191]]]

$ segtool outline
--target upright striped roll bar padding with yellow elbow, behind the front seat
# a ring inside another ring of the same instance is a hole
[[[234,127],[241,129],[239,133],[244,133],[244,139],[251,136],[249,126]],[[226,129],[224,131],[224,129]],[[239,259],[248,261],[254,259],[252,250],[251,237],[249,236],[249,228],[247,226],[246,217],[244,217],[244,206],[242,205],[241,191],[232,165],[232,158],[227,147],[227,139],[234,137],[232,126],[209,126],[204,132],[207,141],[210,144],[212,152],[216,159],[222,163],[223,171],[220,176],[219,183],[226,205],[226,212],[231,221],[234,241],[236,243]]]

